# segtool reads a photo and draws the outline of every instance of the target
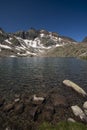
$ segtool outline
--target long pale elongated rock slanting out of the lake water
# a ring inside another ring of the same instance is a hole
[[[63,84],[73,88],[76,92],[78,92],[79,94],[82,94],[83,96],[87,96],[87,93],[77,84],[75,84],[74,82],[70,81],[70,80],[64,80]]]

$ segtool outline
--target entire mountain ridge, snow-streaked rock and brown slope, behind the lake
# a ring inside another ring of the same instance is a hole
[[[87,53],[86,48],[86,40],[77,43],[55,32],[31,28],[6,33],[0,28],[0,56],[83,56]]]

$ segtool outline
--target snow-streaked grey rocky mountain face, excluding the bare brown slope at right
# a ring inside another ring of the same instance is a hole
[[[55,32],[48,32],[46,30],[37,31],[35,29],[27,32],[19,31],[13,34],[3,32],[3,39],[2,41],[1,34],[0,53],[5,52],[3,54],[11,57],[40,56],[47,51],[74,42],[74,40],[71,41],[69,38],[59,36]]]

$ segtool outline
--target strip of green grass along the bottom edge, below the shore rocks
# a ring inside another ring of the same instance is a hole
[[[82,123],[60,122],[57,125],[43,123],[39,130],[87,130],[87,126]]]

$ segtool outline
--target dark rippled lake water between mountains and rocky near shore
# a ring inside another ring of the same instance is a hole
[[[0,95],[62,89],[70,79],[87,91],[87,61],[75,58],[0,58]]]

